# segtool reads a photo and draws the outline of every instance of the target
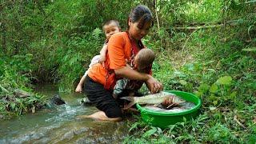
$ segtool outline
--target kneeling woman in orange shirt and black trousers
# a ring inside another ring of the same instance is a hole
[[[139,5],[130,12],[128,30],[111,36],[106,62],[94,65],[86,77],[85,93],[98,110],[102,110],[91,114],[89,118],[122,120],[122,110],[112,96],[118,78],[142,80],[146,82],[151,93],[162,90],[162,83],[150,74],[139,73],[126,66],[126,61],[133,63],[134,56],[145,48],[141,39],[148,34],[151,26],[153,26],[153,17],[149,8]],[[88,116],[82,117],[88,118]]]

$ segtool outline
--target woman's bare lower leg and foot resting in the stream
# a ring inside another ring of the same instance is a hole
[[[94,118],[101,121],[110,121],[110,122],[118,122],[122,120],[122,118],[108,118],[103,111],[98,111],[90,115],[80,115],[78,116],[78,118]]]

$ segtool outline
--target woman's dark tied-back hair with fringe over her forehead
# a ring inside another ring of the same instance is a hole
[[[128,22],[138,22],[138,28],[142,28],[146,22],[151,22],[151,26],[154,25],[153,16],[150,9],[144,5],[138,5],[130,11]]]

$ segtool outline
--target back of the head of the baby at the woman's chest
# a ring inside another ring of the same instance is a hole
[[[134,58],[134,65],[138,70],[145,70],[154,62],[154,52],[150,49],[142,49]]]

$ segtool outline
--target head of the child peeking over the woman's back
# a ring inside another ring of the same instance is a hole
[[[102,26],[104,33],[106,34],[106,39],[109,40],[112,34],[121,31],[119,22],[117,20],[110,20],[104,23]]]

